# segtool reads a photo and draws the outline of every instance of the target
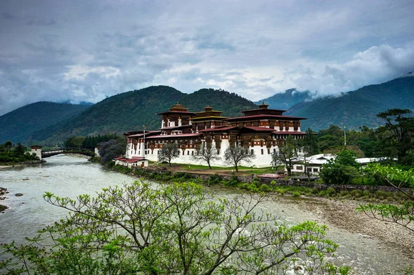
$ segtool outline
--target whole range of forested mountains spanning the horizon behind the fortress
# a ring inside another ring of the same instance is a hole
[[[286,110],[284,114],[307,118],[302,129],[326,129],[331,124],[357,129],[377,127],[382,120],[376,114],[391,108],[414,110],[414,74],[378,85],[368,85],[339,97],[311,100],[310,92],[295,89],[275,94],[264,101],[269,108]],[[154,130],[161,126],[157,113],[175,103],[184,104],[192,112],[207,105],[223,111],[224,116],[240,116],[240,111],[257,105],[235,93],[201,89],[185,94],[168,86],[151,86],[141,90],[110,96],[95,105],[65,103],[32,103],[0,116],[0,143],[7,140],[56,144],[70,136],[88,136],[126,131]],[[290,106],[290,108],[288,108]],[[287,107],[287,108],[286,108]]]

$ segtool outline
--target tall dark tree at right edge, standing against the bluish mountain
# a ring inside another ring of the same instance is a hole
[[[405,159],[407,152],[414,150],[414,117],[411,114],[408,109],[390,109],[377,114],[386,121],[377,132],[384,134],[384,145],[395,149],[398,163],[411,164],[413,161]]]

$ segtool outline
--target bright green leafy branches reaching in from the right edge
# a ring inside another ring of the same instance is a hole
[[[367,205],[359,205],[357,212],[364,212],[381,221],[397,223],[414,232],[414,169],[404,171],[397,167],[374,163],[368,165],[367,170],[380,176],[388,185],[400,190],[406,195],[408,201],[402,205],[368,203]],[[410,187],[411,191],[407,191],[404,187]]]

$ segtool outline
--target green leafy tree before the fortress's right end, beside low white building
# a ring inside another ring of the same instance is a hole
[[[286,140],[279,143],[279,152],[272,155],[272,166],[284,165],[288,175],[291,176],[293,165],[303,161],[300,155],[301,145],[298,139],[288,136]]]

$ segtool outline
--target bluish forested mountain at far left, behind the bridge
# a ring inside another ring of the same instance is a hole
[[[37,102],[0,116],[0,143],[19,143],[34,130],[39,130],[86,110],[88,105]]]

